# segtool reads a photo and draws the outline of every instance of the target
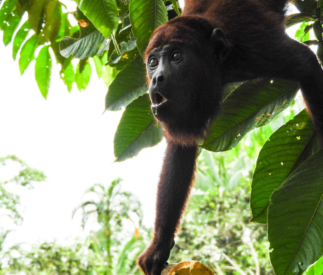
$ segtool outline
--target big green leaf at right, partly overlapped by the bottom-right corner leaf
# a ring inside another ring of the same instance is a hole
[[[251,221],[267,223],[271,194],[290,174],[314,133],[310,117],[303,110],[269,137],[259,153],[252,178]]]

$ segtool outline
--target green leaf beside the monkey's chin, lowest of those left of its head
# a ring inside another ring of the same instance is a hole
[[[145,94],[126,107],[114,136],[115,161],[137,156],[141,149],[161,141],[162,129],[154,119],[150,105],[149,96]]]

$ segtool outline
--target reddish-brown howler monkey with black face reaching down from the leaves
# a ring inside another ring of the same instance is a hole
[[[145,52],[151,109],[167,148],[154,236],[138,257],[160,275],[192,187],[198,140],[222,102],[223,86],[257,77],[299,82],[323,140],[323,71],[315,54],[285,33],[287,0],[185,0],[182,15],[152,34]]]

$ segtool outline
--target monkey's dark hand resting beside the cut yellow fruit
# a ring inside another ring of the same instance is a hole
[[[160,246],[151,243],[137,259],[141,271],[145,275],[160,275],[164,267],[168,265],[167,260],[174,244],[175,241],[172,241],[171,246]]]

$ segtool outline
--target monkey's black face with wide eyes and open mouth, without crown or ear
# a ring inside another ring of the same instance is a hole
[[[192,46],[154,48],[147,58],[151,110],[171,135],[202,137],[220,105],[216,62]]]

